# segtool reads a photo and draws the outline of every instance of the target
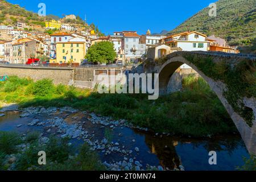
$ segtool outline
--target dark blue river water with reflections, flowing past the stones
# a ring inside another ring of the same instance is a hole
[[[28,117],[19,117],[19,113],[13,111],[5,112],[5,116],[0,117],[0,131],[17,131],[18,133],[28,133],[29,131],[40,131],[46,134],[43,126],[27,126],[28,122],[33,119],[52,118],[52,115],[40,114],[29,115]],[[56,115],[58,115],[56,113]],[[55,116],[56,116],[55,115]],[[63,114],[61,114],[63,115]],[[60,116],[60,115],[59,115]],[[84,121],[86,115],[80,113],[72,113],[65,121],[73,122],[76,116],[76,122]],[[21,127],[17,127],[22,125]],[[245,144],[239,135],[221,135],[214,138],[193,139],[180,138],[171,136],[155,135],[154,133],[130,129],[129,127],[117,126],[114,130],[106,130],[97,124],[86,123],[84,128],[89,133],[94,134],[94,140],[101,140],[107,131],[111,135],[112,141],[118,142],[123,148],[133,150],[139,148],[139,152],[133,152],[129,158],[134,158],[146,167],[162,166],[165,169],[174,169],[179,165],[185,167],[185,170],[236,170],[237,166],[244,164],[243,157],[249,158]],[[81,144],[82,140],[72,139],[72,143]],[[209,151],[217,152],[217,165],[210,165],[208,160]],[[123,155],[112,153],[105,155],[104,152],[98,151],[102,162],[119,162],[123,161]]]

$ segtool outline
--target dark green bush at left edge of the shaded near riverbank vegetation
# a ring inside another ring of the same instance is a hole
[[[16,145],[20,144],[19,135],[13,132],[0,131],[0,152],[14,154]]]

